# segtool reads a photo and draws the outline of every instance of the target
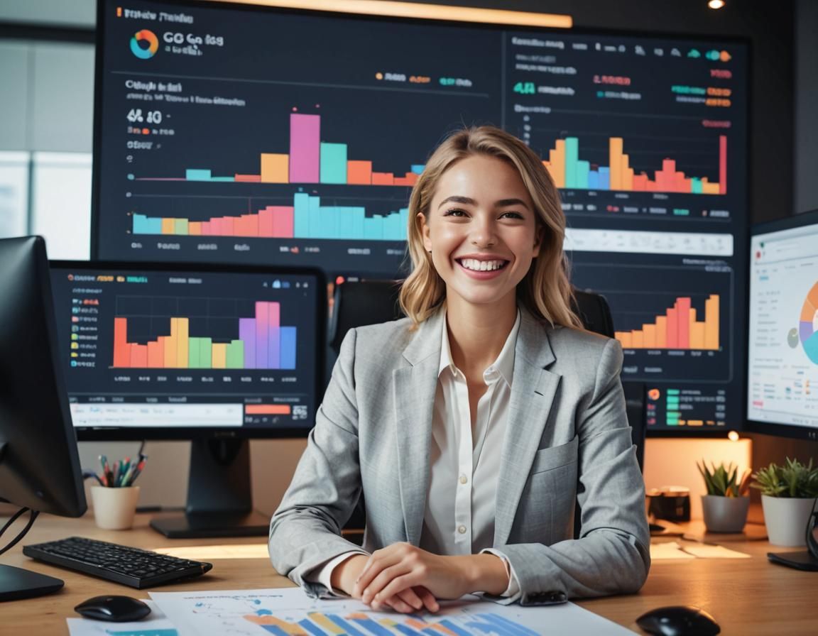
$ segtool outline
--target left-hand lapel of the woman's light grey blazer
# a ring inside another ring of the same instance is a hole
[[[425,320],[403,352],[408,365],[394,370],[393,396],[398,440],[398,477],[407,541],[420,544],[426,493],[434,395],[438,386],[443,311]]]

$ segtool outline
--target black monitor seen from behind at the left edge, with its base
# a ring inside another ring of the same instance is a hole
[[[0,500],[80,517],[85,491],[56,346],[45,241],[0,240]],[[0,565],[0,601],[54,592],[62,581]]]

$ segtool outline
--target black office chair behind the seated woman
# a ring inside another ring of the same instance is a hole
[[[348,281],[335,286],[332,316],[330,317],[327,342],[337,356],[344,336],[349,329],[364,325],[375,325],[389,320],[404,317],[398,304],[400,281],[395,280],[362,280]],[[591,291],[574,289],[573,311],[582,320],[588,331],[613,338],[613,317],[605,296]],[[623,383],[628,423],[631,424],[631,440],[636,446],[636,459],[639,468],[645,453],[645,387],[640,383]],[[574,516],[574,536],[579,535],[580,511]],[[344,535],[358,543],[363,540],[360,528],[366,526],[366,514],[363,495],[358,502],[353,516],[346,524]]]

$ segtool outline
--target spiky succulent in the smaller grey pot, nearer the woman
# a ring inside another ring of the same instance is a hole
[[[707,464],[696,463],[708,494],[702,495],[704,526],[708,532],[741,532],[747,523],[747,512],[750,506],[748,481],[750,471],[744,471],[739,478],[739,468],[732,463]]]

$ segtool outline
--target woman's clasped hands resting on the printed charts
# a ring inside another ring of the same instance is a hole
[[[407,543],[372,553],[352,595],[373,609],[438,611],[438,598],[460,598],[470,589],[468,557],[441,557]]]

